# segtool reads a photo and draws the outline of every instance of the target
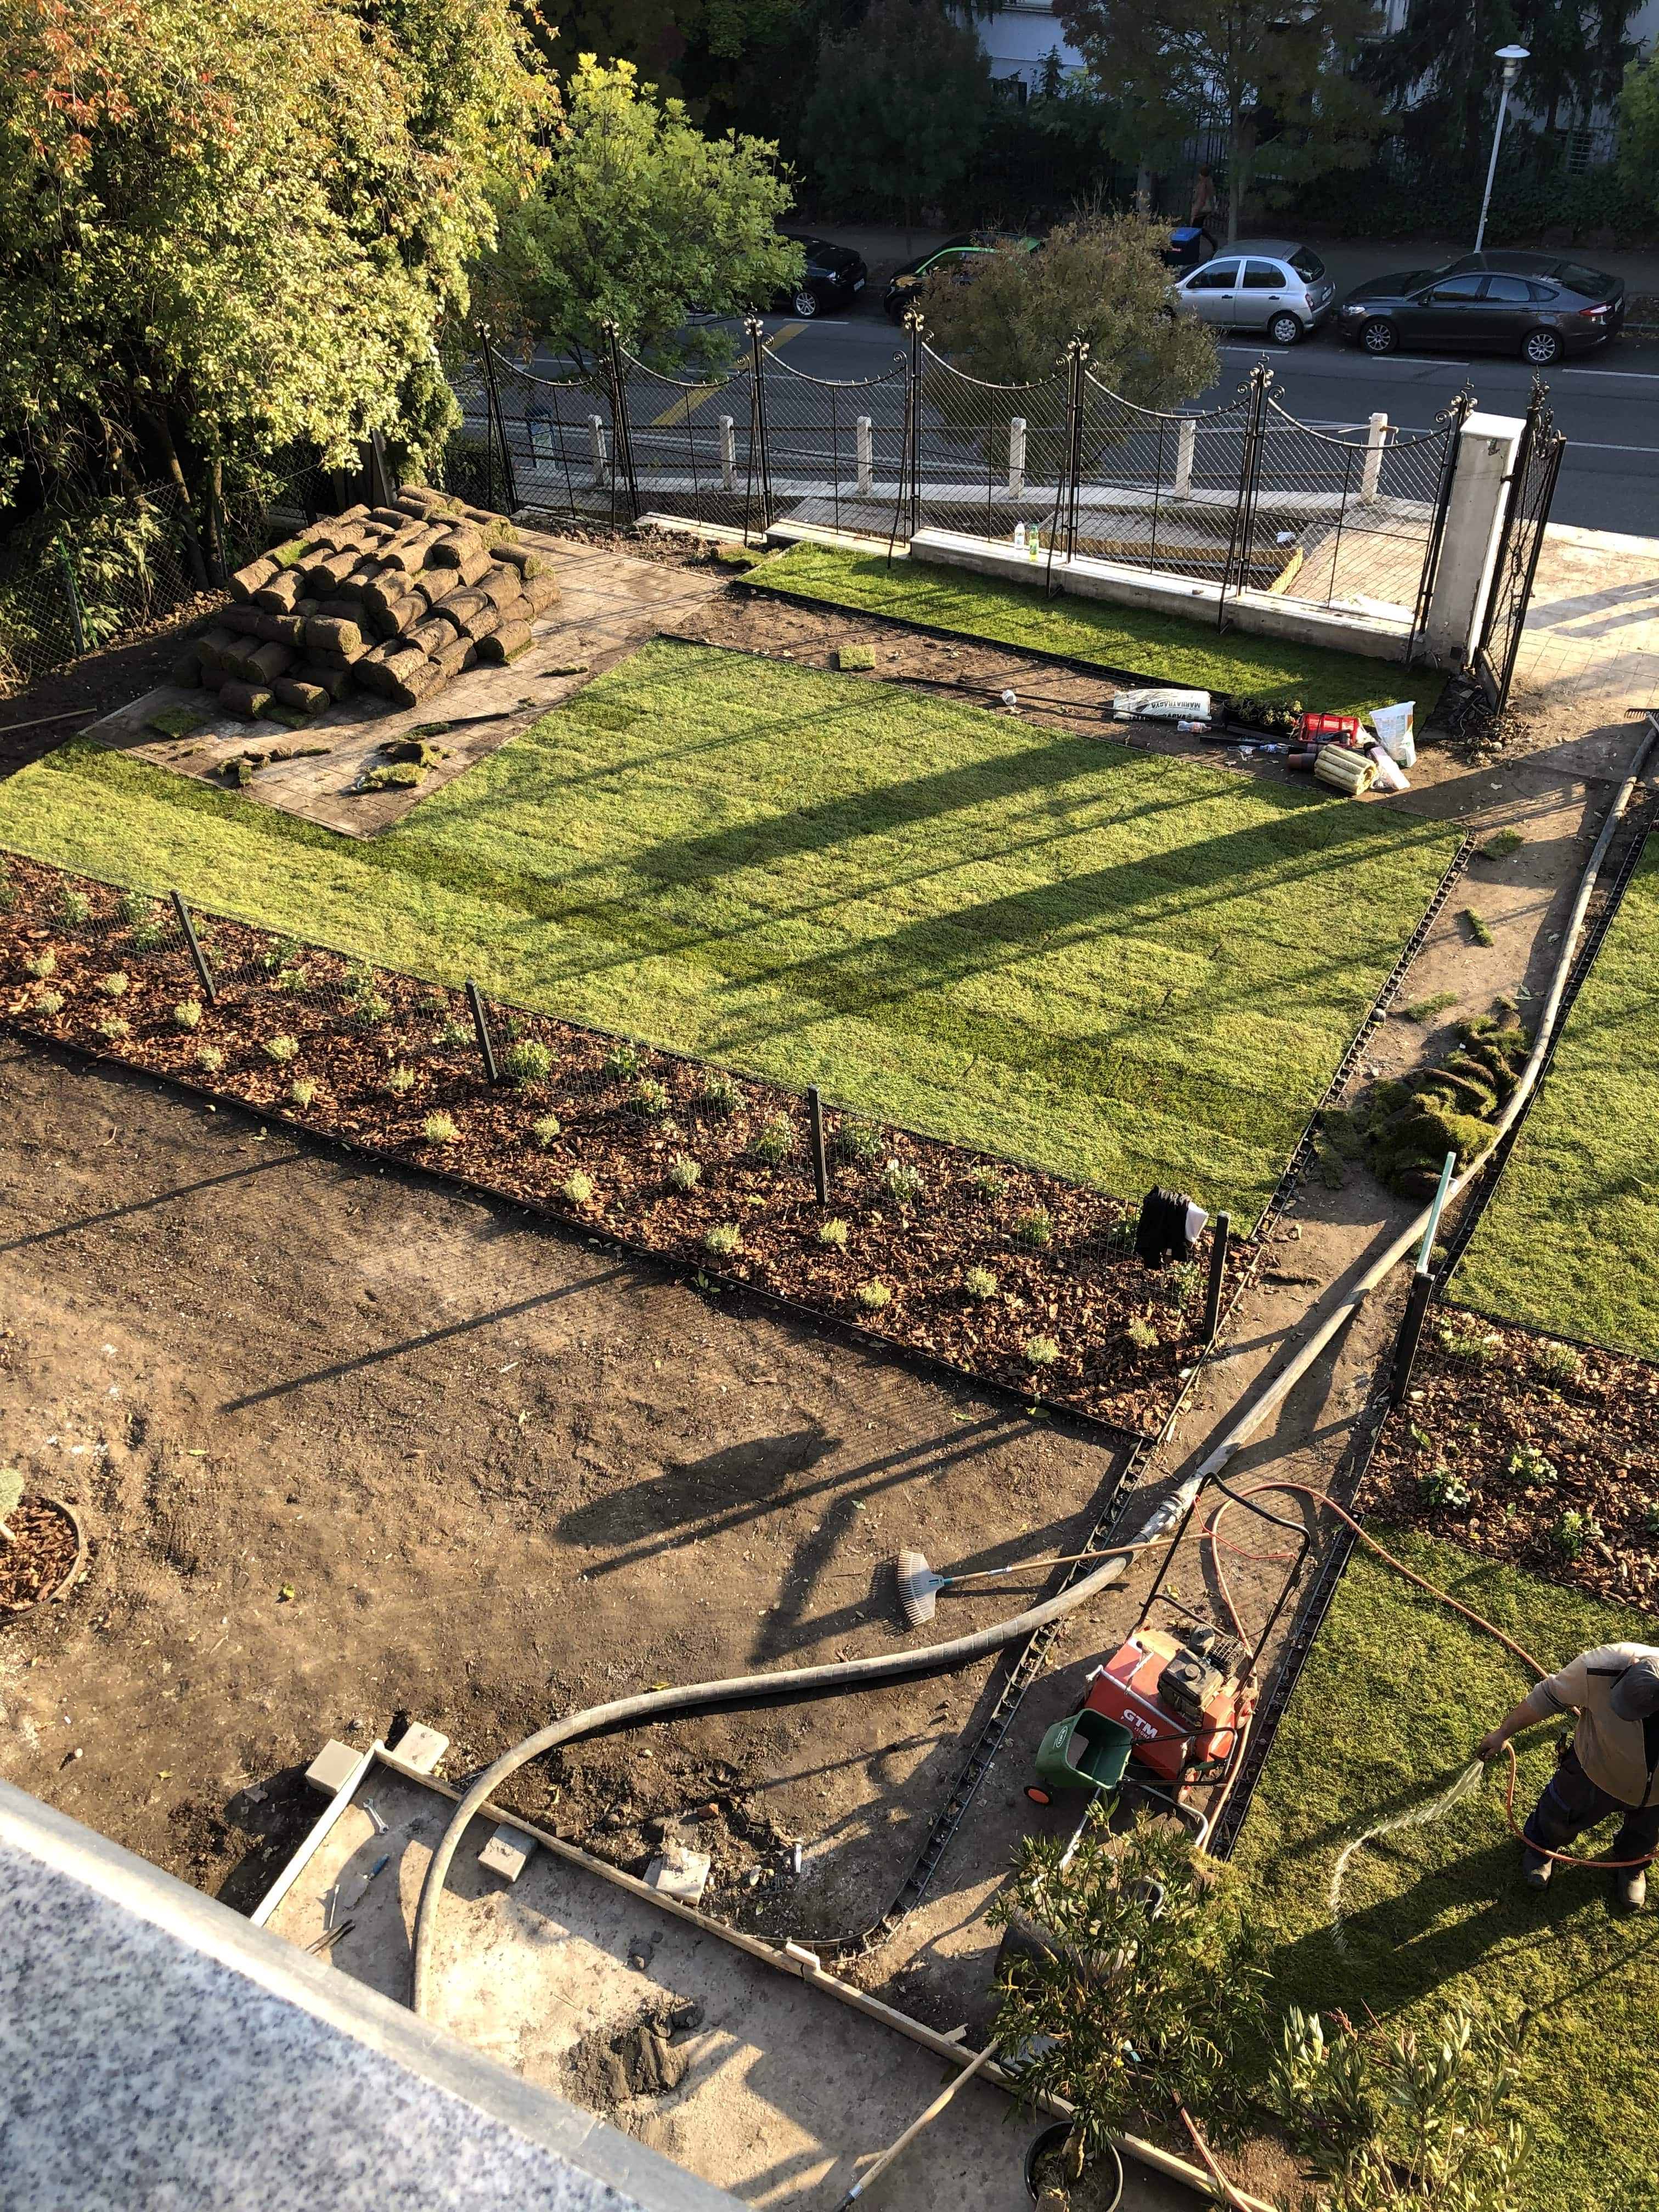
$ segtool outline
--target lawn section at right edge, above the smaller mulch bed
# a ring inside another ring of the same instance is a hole
[[[1566,1020],[1451,1296],[1659,1358],[1659,843]]]

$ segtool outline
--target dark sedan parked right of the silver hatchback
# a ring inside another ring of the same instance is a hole
[[[1546,369],[1624,330],[1624,281],[1564,254],[1464,254],[1354,285],[1336,327],[1367,354],[1400,345],[1520,354]]]

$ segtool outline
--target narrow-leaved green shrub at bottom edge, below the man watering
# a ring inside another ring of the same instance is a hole
[[[1524,2037],[1524,2017],[1385,2033],[1292,2006],[1263,2101],[1325,2183],[1318,2212],[1522,2212]]]

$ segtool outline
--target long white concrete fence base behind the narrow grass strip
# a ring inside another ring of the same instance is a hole
[[[918,531],[909,557],[942,568],[971,568],[1004,584],[1053,582],[1057,591],[1079,599],[1108,599],[1115,606],[1144,606],[1161,615],[1181,615],[1217,628],[1221,586],[1183,575],[1157,575],[1106,560],[1066,560],[1044,553],[1031,560],[1011,544],[989,538],[964,538],[956,531]],[[1267,591],[1228,593],[1228,626],[1256,637],[1287,637],[1303,646],[1327,646],[1332,653],[1358,653],[1376,661],[1405,661],[1411,650],[1411,613],[1371,602],[1354,608],[1314,606]]]

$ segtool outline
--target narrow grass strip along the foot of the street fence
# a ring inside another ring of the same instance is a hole
[[[938,568],[883,553],[843,553],[834,546],[796,544],[781,560],[757,571],[772,591],[803,599],[830,599],[869,615],[900,615],[940,630],[991,637],[1002,646],[1068,653],[1146,677],[1148,684],[1188,684],[1203,690],[1256,697],[1298,697],[1303,706],[1332,714],[1360,714],[1394,699],[1416,699],[1418,726],[1444,688],[1431,668],[1394,668],[1354,653],[1294,646],[1276,637],[1219,635],[1201,622],[1155,615],[1102,599],[1048,599],[1000,584],[967,568]]]

